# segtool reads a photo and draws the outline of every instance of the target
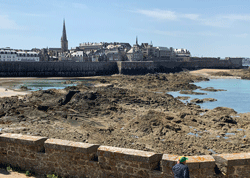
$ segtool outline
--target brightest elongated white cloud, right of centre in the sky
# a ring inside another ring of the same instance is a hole
[[[175,12],[173,12],[173,11],[159,10],[159,9],[155,9],[155,10],[138,9],[135,12],[139,13],[139,14],[146,15],[148,17],[157,18],[160,20],[176,20],[177,19],[177,16],[176,16]]]

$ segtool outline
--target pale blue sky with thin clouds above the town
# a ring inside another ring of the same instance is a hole
[[[0,48],[150,43],[199,57],[250,57],[249,0],[0,0]]]

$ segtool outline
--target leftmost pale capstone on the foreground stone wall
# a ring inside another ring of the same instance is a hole
[[[43,145],[46,137],[38,137],[38,136],[27,136],[21,134],[10,134],[4,133],[0,135],[0,142],[12,143],[12,144],[23,144],[30,146],[38,146]]]

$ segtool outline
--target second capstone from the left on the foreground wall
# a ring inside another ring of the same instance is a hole
[[[68,140],[60,140],[60,139],[48,139],[44,143],[45,151],[46,149],[53,150],[61,150],[71,153],[84,153],[84,154],[91,154],[96,153],[97,148],[99,145],[96,144],[88,144],[88,143],[81,143],[81,142],[72,142]]]

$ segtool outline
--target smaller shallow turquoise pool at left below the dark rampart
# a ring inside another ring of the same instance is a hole
[[[64,89],[68,86],[76,86],[77,81],[85,81],[86,85],[90,85],[86,80],[70,80],[73,83],[65,84],[69,80],[54,80],[54,79],[41,79],[41,80],[24,80],[13,83],[12,89],[20,89],[21,86],[28,87],[31,91],[48,90],[48,89]]]

